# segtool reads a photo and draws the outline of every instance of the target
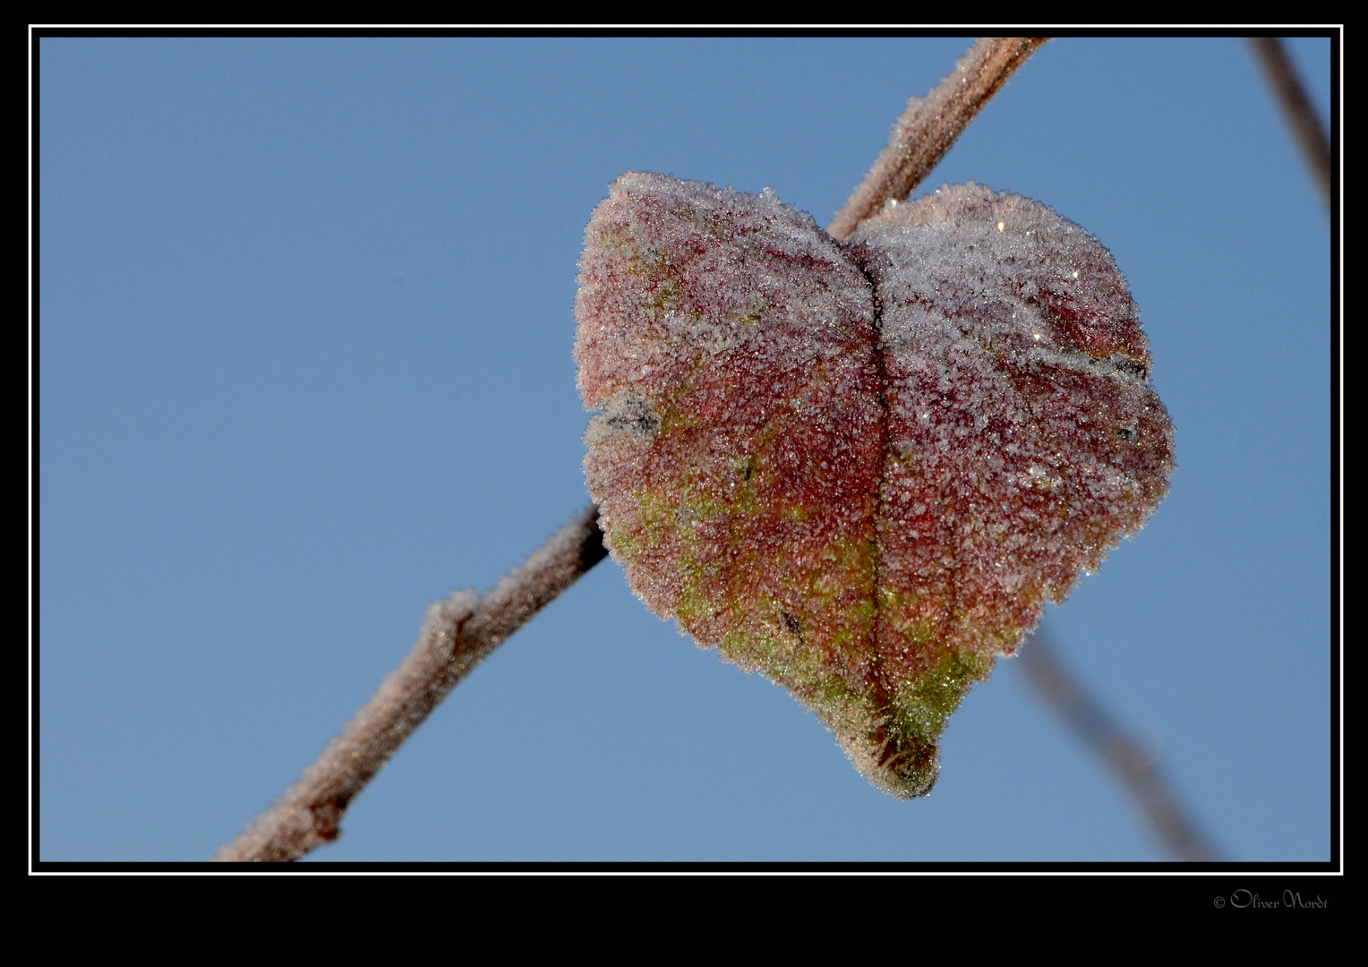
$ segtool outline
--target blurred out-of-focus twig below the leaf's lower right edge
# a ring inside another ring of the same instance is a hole
[[[1212,849],[1186,817],[1178,799],[1166,785],[1155,758],[1107,714],[1107,710],[1070,674],[1055,654],[1044,631],[1037,631],[1022,647],[1026,677],[1051,707],[1068,724],[1074,734],[1096,752],[1126,784],[1150,827],[1168,851],[1181,860],[1216,862]]]

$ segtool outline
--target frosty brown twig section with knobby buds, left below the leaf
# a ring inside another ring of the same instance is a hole
[[[598,507],[572,517],[483,598],[457,591],[428,606],[413,650],[271,808],[216,860],[291,860],[337,838],[352,799],[480,659],[603,559]]]

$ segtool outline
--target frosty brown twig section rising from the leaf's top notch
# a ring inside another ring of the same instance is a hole
[[[840,241],[884,207],[902,201],[936,167],[964,126],[1047,37],[979,37],[926,97],[910,97],[888,146],[826,226]]]

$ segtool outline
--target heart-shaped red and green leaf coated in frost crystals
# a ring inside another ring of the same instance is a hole
[[[575,312],[586,476],[632,590],[899,796],[1172,472],[1124,279],[1018,196],[945,187],[843,246],[770,191],[628,172]]]

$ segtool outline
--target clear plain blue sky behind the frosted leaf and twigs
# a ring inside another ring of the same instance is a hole
[[[610,181],[825,224],[969,42],[42,40],[40,858],[208,856],[427,602],[587,502],[570,304]],[[1328,116],[1328,40],[1291,49]],[[922,190],[969,179],[1111,249],[1176,425],[1170,495],[1052,635],[1223,853],[1328,859],[1328,222],[1248,49],[1051,41]],[[312,856],[1163,858],[1015,662],[902,802],[613,562]]]

